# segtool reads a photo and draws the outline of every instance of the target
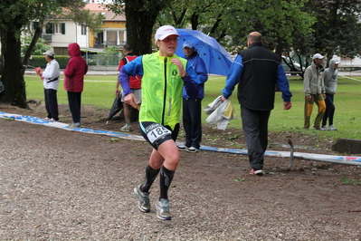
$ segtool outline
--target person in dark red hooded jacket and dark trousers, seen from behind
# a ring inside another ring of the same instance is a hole
[[[84,75],[88,72],[88,64],[81,57],[81,47],[78,43],[70,43],[68,53],[71,59],[64,70],[64,89],[68,92],[73,122],[69,128],[74,129],[81,127],[81,92],[84,87]]]

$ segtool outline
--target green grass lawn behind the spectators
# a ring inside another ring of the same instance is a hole
[[[63,79],[63,76],[61,76]],[[114,101],[115,86],[117,75],[86,75],[84,92],[82,93],[82,104],[91,104],[100,110],[108,111]],[[355,77],[353,77],[355,78]],[[283,111],[283,101],[281,93],[276,92],[275,108],[271,112],[269,123],[270,131],[299,131],[305,134],[318,134],[322,138],[349,138],[361,139],[361,78],[360,82],[344,77],[338,77],[337,94],[335,95],[335,119],[334,125],[337,131],[317,131],[303,130],[303,110],[304,110],[304,93],[303,82],[295,77],[290,77],[290,91],[293,94],[292,108],[289,111]],[[205,83],[205,97],[203,106],[214,101],[222,94],[225,77],[211,76]],[[25,75],[27,99],[43,101],[43,83],[37,75]],[[237,88],[237,87],[236,87]],[[68,103],[66,92],[62,88],[62,82],[58,91],[59,103]],[[231,96],[231,101],[236,110],[237,119],[231,120],[229,127],[241,129],[242,123],[240,118],[240,105],[236,99],[236,89]],[[317,113],[317,106],[314,105],[311,121],[314,120]],[[207,116],[203,112],[203,121]],[[312,122],[311,122],[312,123]]]

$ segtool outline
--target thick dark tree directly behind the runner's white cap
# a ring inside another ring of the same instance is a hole
[[[133,53],[152,53],[153,27],[157,15],[171,0],[114,0],[106,5],[115,14],[125,14],[127,18],[127,40]]]

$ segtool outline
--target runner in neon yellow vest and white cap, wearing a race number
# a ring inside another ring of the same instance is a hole
[[[137,108],[137,100],[129,87],[129,76],[142,76],[142,106],[139,111],[139,128],[152,146],[142,184],[134,188],[141,212],[150,211],[149,189],[159,175],[160,195],[156,203],[157,217],[170,220],[168,189],[179,164],[176,138],[182,108],[182,90],[185,87],[191,98],[198,95],[198,77],[183,58],[176,56],[179,34],[176,28],[164,25],[155,35],[157,53],[139,56],[120,69],[119,81],[124,101]]]

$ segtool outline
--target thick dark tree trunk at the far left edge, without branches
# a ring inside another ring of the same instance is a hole
[[[3,53],[3,72],[1,80],[5,91],[0,94],[0,102],[27,108],[23,64],[21,61],[20,32],[1,30],[1,53]]]

